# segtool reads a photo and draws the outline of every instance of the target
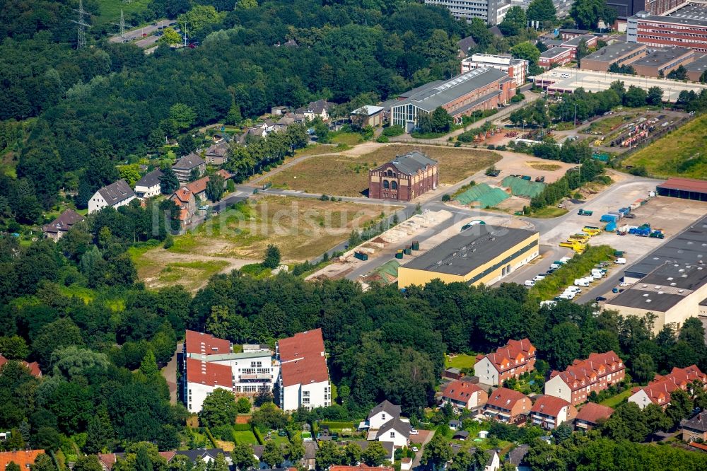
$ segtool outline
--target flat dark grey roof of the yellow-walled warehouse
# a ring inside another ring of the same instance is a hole
[[[478,224],[418,255],[404,268],[465,275],[537,231]]]

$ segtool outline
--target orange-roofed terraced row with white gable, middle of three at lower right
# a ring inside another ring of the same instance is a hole
[[[560,397],[572,405],[587,402],[593,392],[620,383],[626,366],[614,351],[592,353],[585,360],[575,360],[565,371],[552,371],[545,383],[545,394]]]

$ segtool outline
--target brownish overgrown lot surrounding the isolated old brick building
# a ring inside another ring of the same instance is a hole
[[[440,163],[440,183],[453,184],[474,175],[501,160],[497,153],[452,147],[391,145],[356,155],[355,152],[315,156],[276,173],[271,182],[276,187],[310,193],[361,196],[368,189],[368,169],[390,161],[397,155],[422,150]]]

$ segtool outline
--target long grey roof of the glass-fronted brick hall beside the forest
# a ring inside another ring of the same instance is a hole
[[[433,112],[437,107],[448,105],[477,88],[487,86],[490,83],[503,79],[505,76],[508,76],[508,74],[498,69],[479,67],[479,69],[474,69],[466,74],[457,75],[455,78],[445,82],[440,83],[436,81],[428,83],[427,86],[416,89],[416,93],[407,95],[409,98],[393,106],[412,103],[422,110]]]

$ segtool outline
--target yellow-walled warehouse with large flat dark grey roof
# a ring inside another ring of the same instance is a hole
[[[445,240],[398,269],[398,288],[433,279],[493,284],[539,255],[539,233],[477,225]]]

